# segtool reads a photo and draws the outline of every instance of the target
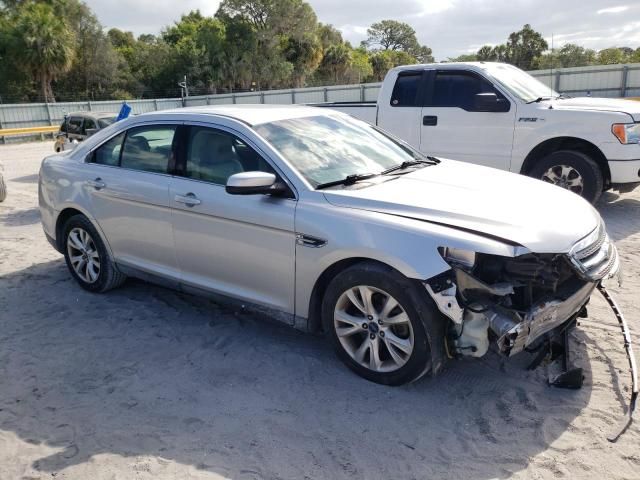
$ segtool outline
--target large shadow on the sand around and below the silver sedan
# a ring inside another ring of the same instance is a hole
[[[591,395],[584,332],[580,391],[496,355],[392,388],[321,337],[142,282],[90,294],[62,260],[0,277],[0,305],[0,430],[58,449],[31,465],[47,473],[108,453],[233,478],[507,478]]]

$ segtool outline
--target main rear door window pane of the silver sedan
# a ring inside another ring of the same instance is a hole
[[[134,127],[127,131],[120,166],[131,170],[167,173],[173,160],[175,125]]]

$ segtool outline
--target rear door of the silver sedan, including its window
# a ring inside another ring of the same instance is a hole
[[[175,124],[135,126],[94,149],[85,165],[92,213],[115,260],[178,281],[169,205]]]

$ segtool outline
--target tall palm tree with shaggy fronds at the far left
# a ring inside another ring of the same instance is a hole
[[[28,3],[20,9],[15,24],[21,60],[42,89],[45,102],[55,102],[51,82],[68,72],[74,56],[74,34],[46,3]]]

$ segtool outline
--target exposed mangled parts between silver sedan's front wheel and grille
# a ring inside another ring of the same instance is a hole
[[[451,270],[426,288],[453,321],[457,354],[483,356],[495,340],[512,356],[581,313],[596,284],[581,279],[564,255],[519,257],[469,254],[443,249]]]

